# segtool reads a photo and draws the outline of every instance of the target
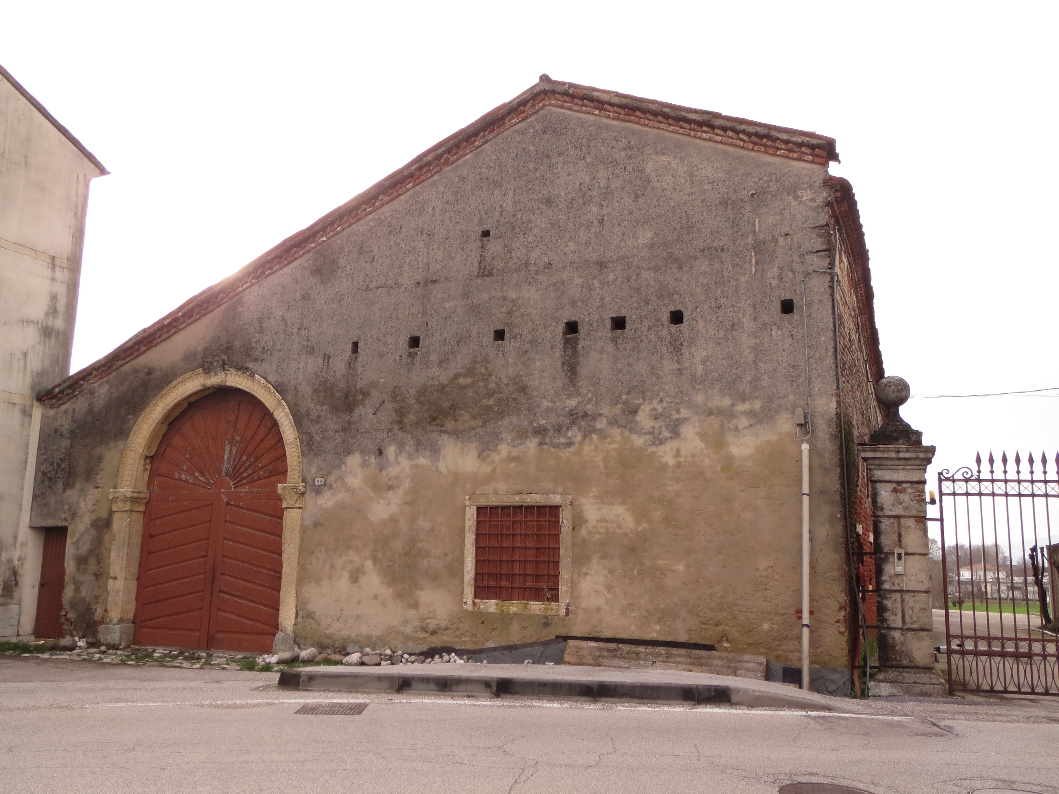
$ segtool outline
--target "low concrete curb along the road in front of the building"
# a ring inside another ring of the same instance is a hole
[[[730,703],[757,708],[833,711],[829,705],[795,692],[774,692],[731,684],[659,681],[608,681],[522,675],[406,673],[400,670],[334,667],[284,670],[279,685],[302,690],[523,697],[644,703]]]

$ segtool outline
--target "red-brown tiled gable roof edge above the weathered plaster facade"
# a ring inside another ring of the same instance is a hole
[[[189,299],[98,361],[41,392],[38,399],[50,408],[58,408],[73,399],[87,386],[546,107],[653,127],[788,160],[819,165],[839,160],[834,139],[815,132],[777,127],[573,83],[559,83],[542,74],[536,85],[510,102],[500,105],[473,124],[434,144],[389,177],[301,232],[287,237],[243,269]]]

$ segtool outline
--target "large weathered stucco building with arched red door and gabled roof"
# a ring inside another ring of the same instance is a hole
[[[882,362],[836,159],[542,76],[41,396],[69,630],[794,663],[808,408],[812,657],[845,666]]]

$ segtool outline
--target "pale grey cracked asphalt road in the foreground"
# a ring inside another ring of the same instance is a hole
[[[851,714],[275,688],[274,673],[0,656],[0,790],[1059,793],[1059,699],[848,703]],[[308,716],[357,701],[360,716]]]

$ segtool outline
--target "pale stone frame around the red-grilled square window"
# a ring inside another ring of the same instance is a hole
[[[465,610],[526,615],[570,614],[571,566],[573,564],[573,506],[569,493],[472,493],[465,500],[464,520],[464,598]],[[474,549],[478,540],[479,507],[521,507],[523,505],[559,508],[559,598],[556,601],[497,601],[474,598]]]

